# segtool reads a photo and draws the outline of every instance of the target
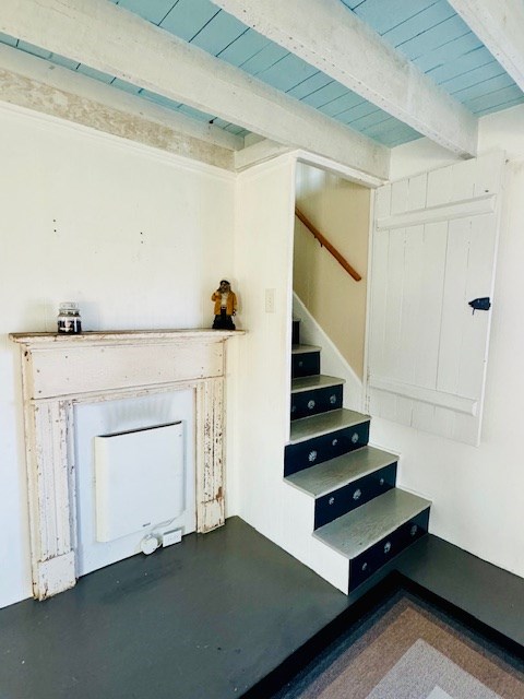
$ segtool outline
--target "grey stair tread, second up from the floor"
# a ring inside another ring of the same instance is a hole
[[[379,471],[379,469],[397,460],[398,457],[395,454],[368,446],[298,471],[286,476],[286,481],[317,498]]]

